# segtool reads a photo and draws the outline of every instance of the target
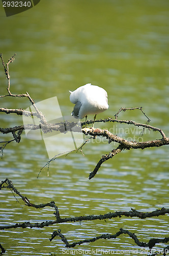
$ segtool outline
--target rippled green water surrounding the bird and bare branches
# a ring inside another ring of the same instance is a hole
[[[121,107],[142,106],[151,125],[169,134],[169,2],[148,1],[41,1],[34,8],[6,17],[1,4],[0,51],[10,65],[11,92],[29,92],[35,102],[57,96],[63,115],[73,105],[69,90],[91,82],[108,93],[109,109],[98,118],[114,117]],[[0,68],[0,94],[6,94],[7,80]],[[29,107],[26,98],[1,98],[6,108]],[[90,118],[93,118],[90,116]],[[146,123],[138,110],[124,112],[120,119]],[[1,126],[21,125],[22,118],[1,114]],[[95,127],[135,140],[140,130],[112,123]],[[131,137],[131,138],[130,138]],[[160,138],[147,131],[144,139]],[[0,135],[0,141],[11,139]],[[96,138],[83,147],[84,156],[71,153],[48,161],[42,140],[30,140],[23,134],[19,144],[11,143],[0,162],[0,178],[8,177],[32,203],[55,201],[61,217],[99,215],[109,211],[152,211],[168,207],[168,146],[124,151],[103,163],[95,178],[88,180],[100,157],[116,144]],[[10,190],[1,190],[2,224],[54,220],[53,209],[36,210],[19,203]],[[134,232],[138,239],[168,236],[167,216],[140,220],[116,218],[104,221],[65,223],[43,229],[1,231],[4,255],[63,254],[60,238],[49,241],[53,230],[61,229],[69,242],[89,239],[120,228]],[[164,244],[155,248],[163,248]],[[98,240],[77,249],[140,250],[127,236],[116,240]],[[83,252],[81,255],[86,255]],[[131,253],[132,255],[132,253]],[[146,255],[146,252],[145,252]]]

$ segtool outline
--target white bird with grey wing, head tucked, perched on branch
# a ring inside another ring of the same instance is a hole
[[[71,113],[72,116],[82,119],[89,114],[94,114],[94,122],[96,115],[108,109],[107,92],[91,83],[80,86],[75,91],[70,92],[70,101],[75,104]]]

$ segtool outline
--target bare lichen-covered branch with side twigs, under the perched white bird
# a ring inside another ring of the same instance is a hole
[[[7,96],[10,96],[10,97],[27,97],[27,98],[29,98],[30,102],[32,103],[32,105],[35,109],[35,112],[24,111],[23,109],[7,109],[7,108],[0,108],[0,112],[4,112],[6,114],[15,113],[17,115],[36,116],[37,118],[40,119],[40,124],[39,125],[27,124],[27,125],[24,125],[24,126],[20,125],[20,126],[7,127],[7,128],[1,128],[0,127],[0,132],[2,132],[3,134],[12,133],[12,136],[13,136],[14,140],[17,143],[19,143],[19,141],[20,141],[20,135],[21,135],[23,130],[38,130],[38,129],[41,129],[42,132],[45,133],[45,134],[50,133],[52,131],[60,131],[61,133],[66,133],[67,132],[67,131],[65,131],[66,126],[67,126],[67,129],[69,129],[69,127],[71,128],[73,125],[76,125],[76,124],[74,124],[73,122],[72,123],[61,122],[61,123],[56,123],[56,124],[47,123],[46,119],[45,119],[45,116],[43,115],[43,113],[41,113],[37,109],[37,106],[35,105],[35,102],[31,98],[29,93],[27,93],[27,92],[26,92],[26,94],[12,94],[11,93],[11,91],[10,91],[9,63],[14,61],[14,56],[12,56],[5,65],[5,62],[3,60],[2,55],[0,55],[0,57],[2,59],[2,65],[4,67],[5,74],[6,74],[6,77],[8,79],[8,88],[7,88],[8,95],[3,95],[3,96],[0,96],[0,97],[7,97]],[[132,120],[118,120],[117,119],[120,112],[127,111],[127,110],[136,110],[136,109],[138,109],[140,112],[142,112],[144,114],[144,116],[148,119],[146,124],[137,123],[137,122],[132,121]],[[91,136],[90,138],[96,138],[97,136],[102,136],[102,137],[105,137],[108,140],[108,143],[110,143],[112,141],[119,143],[119,146],[116,149],[113,149],[110,153],[101,157],[101,159],[97,163],[93,172],[90,173],[89,179],[93,178],[97,174],[98,169],[100,168],[100,166],[103,162],[105,162],[106,160],[108,160],[108,159],[112,158],[113,156],[117,155],[122,150],[125,150],[125,149],[129,150],[130,148],[144,149],[144,148],[148,148],[148,147],[157,147],[157,146],[163,146],[163,145],[168,145],[169,144],[169,138],[165,136],[164,132],[161,129],[159,129],[157,127],[154,127],[152,125],[149,125],[150,118],[148,118],[148,116],[145,114],[145,112],[143,112],[142,107],[121,108],[115,114],[115,119],[107,118],[107,119],[103,119],[103,120],[102,119],[101,120],[95,120],[95,123],[96,122],[104,122],[104,123],[105,122],[117,122],[117,123],[121,123],[121,124],[125,123],[125,124],[128,124],[128,125],[143,127],[143,132],[141,133],[141,136],[143,136],[143,133],[144,133],[145,129],[149,129],[149,130],[152,130],[152,131],[159,132],[160,135],[162,136],[162,138],[161,139],[156,139],[156,140],[142,141],[142,142],[140,142],[140,141],[138,141],[138,142],[137,141],[128,141],[124,138],[121,138],[117,135],[114,135],[114,134],[110,133],[108,130],[101,130],[99,128],[98,129],[92,129],[91,128],[91,129],[88,129],[88,132],[86,132],[84,129],[82,129],[82,132],[84,134]],[[88,124],[93,123],[93,120],[88,120],[87,123]],[[81,125],[83,125],[83,124],[85,124],[85,122],[81,122]],[[17,132],[17,134],[16,134],[16,132]],[[77,131],[77,132],[79,132],[79,131]],[[80,130],[80,132],[81,132],[81,130]],[[10,143],[14,140],[9,140],[9,141],[4,142],[4,145],[0,148],[0,150],[2,152],[2,155],[3,155],[3,150],[4,150],[5,146],[8,143]],[[85,145],[85,144],[86,144],[86,142],[83,143],[82,146]],[[80,146],[77,150],[80,149],[80,151],[81,151],[82,146]],[[70,152],[64,152],[64,153],[70,153]],[[61,153],[60,155],[63,155],[63,153]],[[57,157],[58,157],[58,155],[53,157],[52,159],[50,159],[43,167],[45,167],[47,165],[48,168],[49,168],[50,162],[55,160]],[[40,170],[40,172],[41,172],[41,170]]]

